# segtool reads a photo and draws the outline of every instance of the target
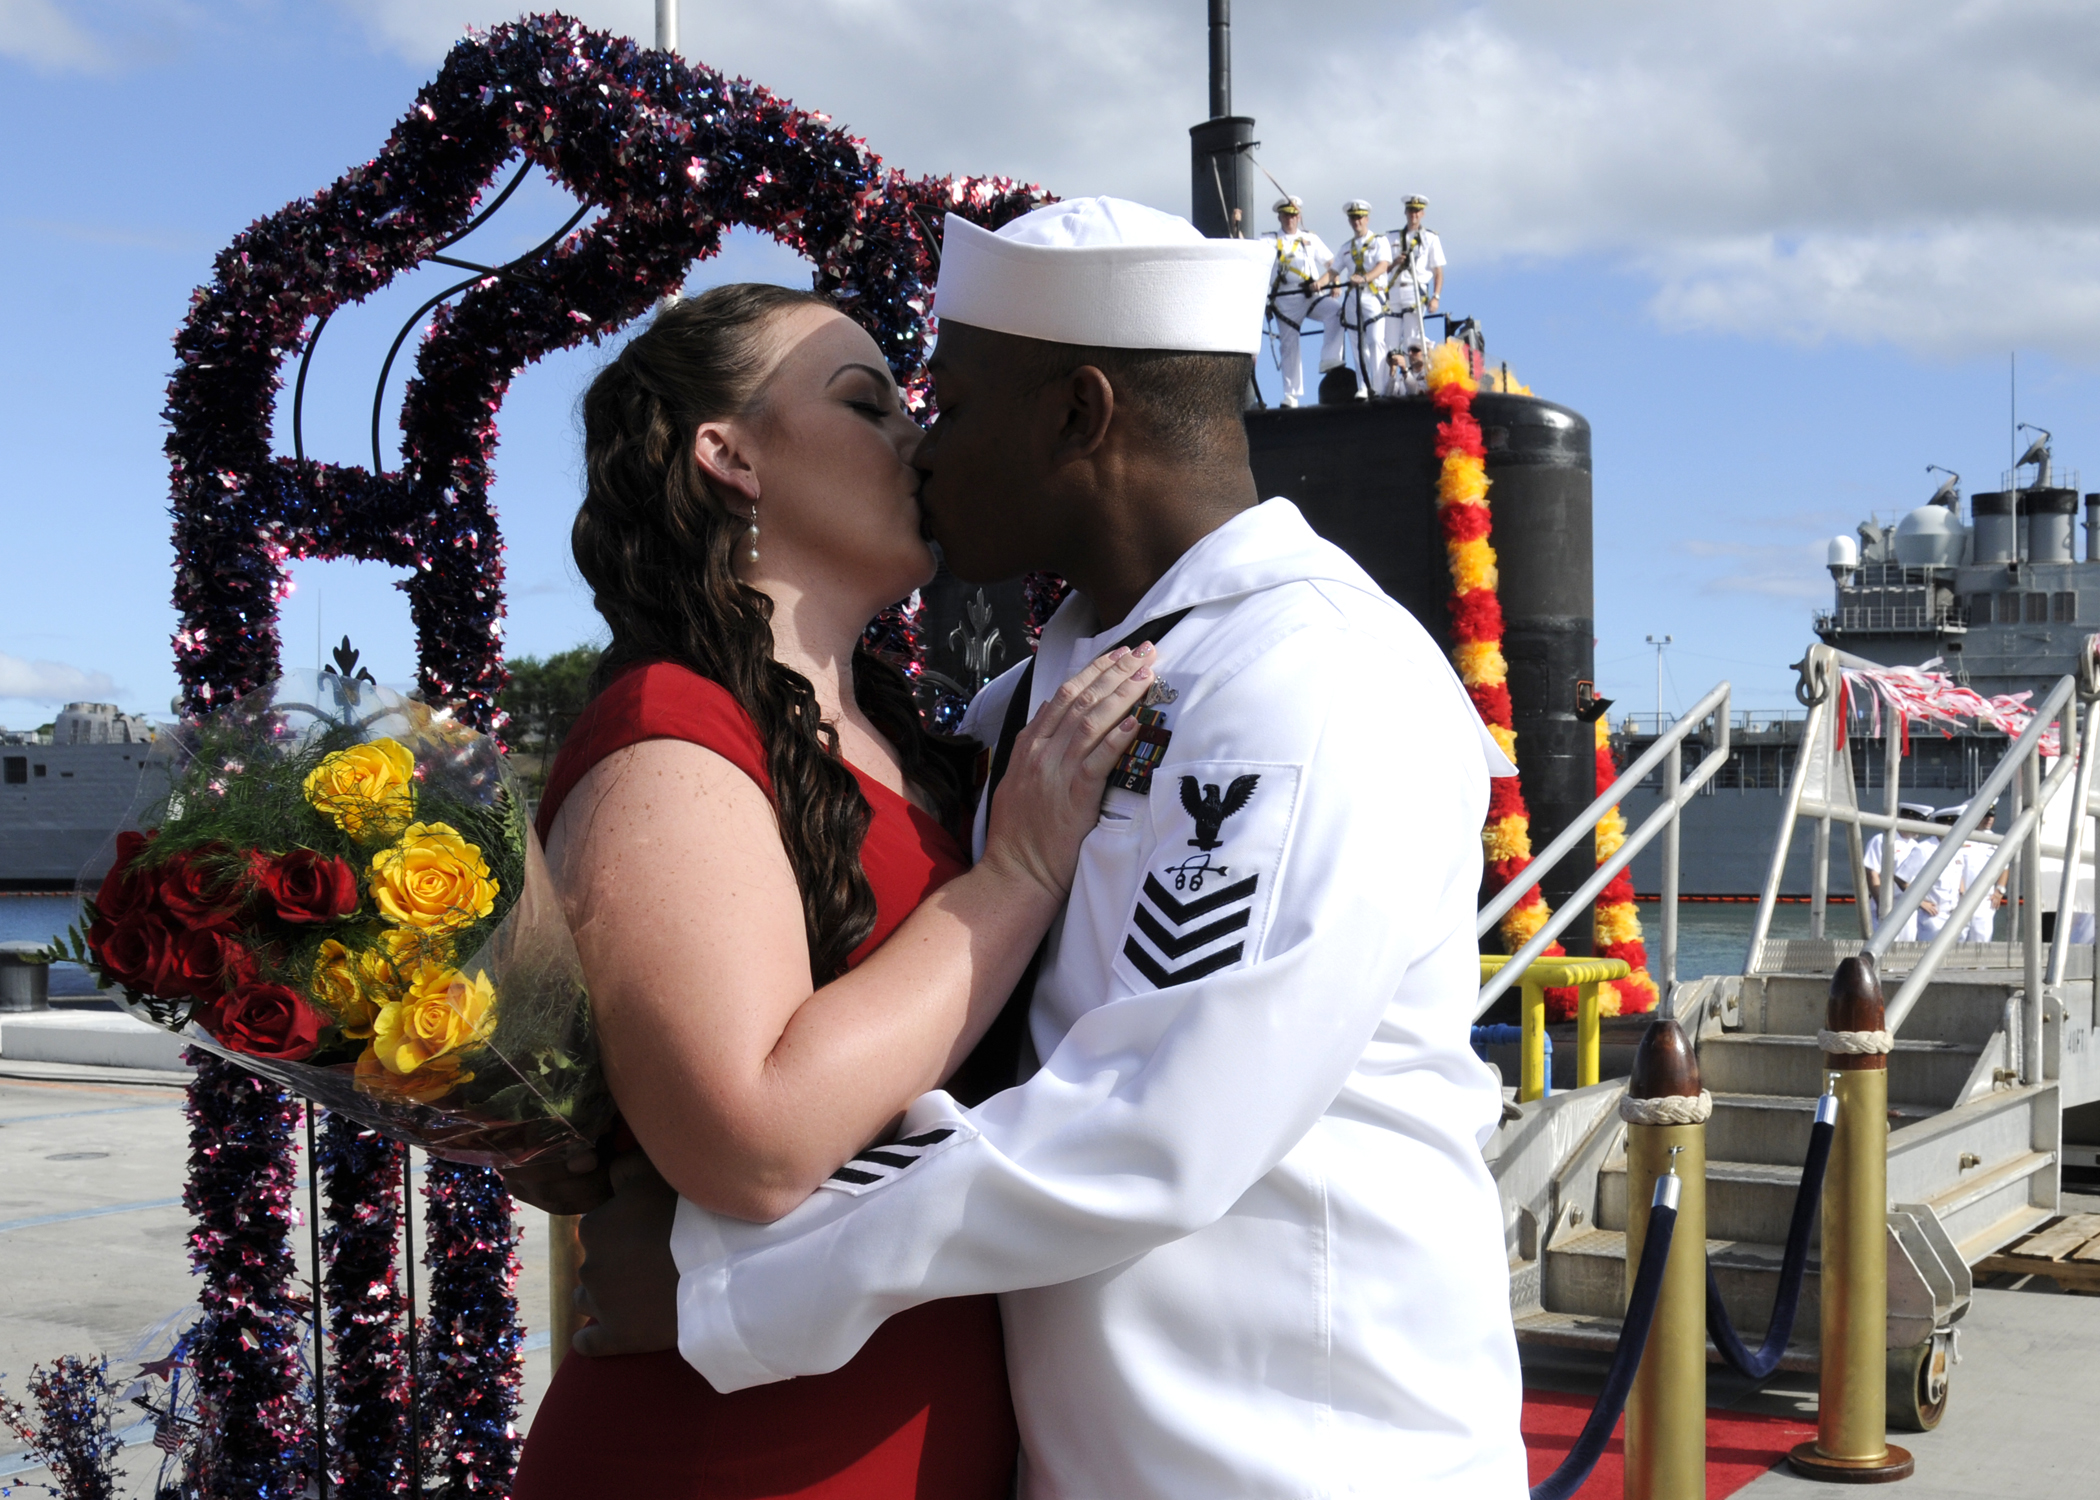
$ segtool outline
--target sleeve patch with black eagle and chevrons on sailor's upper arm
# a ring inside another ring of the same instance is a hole
[[[1296,803],[1296,765],[1195,761],[1161,773],[1157,842],[1115,956],[1124,983],[1166,989],[1252,962]]]

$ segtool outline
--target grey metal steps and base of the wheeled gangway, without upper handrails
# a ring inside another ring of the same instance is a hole
[[[1808,947],[1808,943],[1802,943]],[[1821,947],[1821,943],[1819,943]],[[1850,947],[1856,947],[1852,943]],[[1922,952],[1898,945],[1890,960]],[[1707,1122],[1707,1263],[1747,1342],[1764,1338],[1779,1288],[1787,1221],[1823,1090],[1816,1029],[1829,971],[1726,975],[1680,987],[1680,1019],[1697,1025],[1701,1082],[1714,1095]],[[2090,983],[2066,994],[2090,1011]],[[1936,979],[1913,1013],[1922,1038],[1898,1038],[1890,1055],[1890,1349],[1892,1395],[1909,1393],[1913,1422],[1932,1410],[1945,1380],[1922,1380],[1945,1355],[1968,1305],[1968,1267],[2043,1223],[2058,1195],[2060,1086],[2018,1082],[2018,973],[1976,971]],[[1533,1105],[1504,1126],[1510,1145],[1558,1132],[1581,1139],[1560,1168],[1522,1191],[1522,1149],[1491,1166],[1514,1195],[1510,1244],[1512,1315],[1531,1345],[1609,1353],[1625,1307],[1628,1174],[1619,1084],[1598,1084]],[[1548,1126],[1560,1116],[1558,1130]],[[1819,1267],[1808,1273],[1785,1370],[1816,1368]],[[1712,1351],[1709,1357],[1720,1359]],[[1892,1403],[1892,1420],[1905,1403]]]

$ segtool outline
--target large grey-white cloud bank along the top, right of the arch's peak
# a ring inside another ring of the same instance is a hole
[[[420,63],[517,15],[336,4]],[[653,34],[649,0],[569,8]],[[680,13],[687,57],[830,111],[909,172],[1186,202],[1205,107],[1186,0]],[[1235,105],[1317,229],[1346,197],[1384,216],[1424,191],[1453,286],[1497,258],[1586,258],[1646,277],[1670,330],[1940,357],[2100,355],[2096,74],[2079,0],[1445,0],[1344,27],[1264,4],[1235,21]]]

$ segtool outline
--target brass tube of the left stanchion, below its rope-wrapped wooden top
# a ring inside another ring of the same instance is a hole
[[[1625,1286],[1648,1235],[1655,1179],[1682,1183],[1663,1294],[1625,1399],[1625,1500],[1705,1498],[1705,1126],[1625,1126]]]

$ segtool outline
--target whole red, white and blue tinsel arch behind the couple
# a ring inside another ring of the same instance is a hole
[[[508,197],[483,206],[512,162],[573,193],[578,218],[519,263],[449,256]],[[361,559],[412,569],[422,693],[500,733],[504,546],[489,479],[496,414],[519,370],[640,317],[741,225],[808,256],[815,288],[876,338],[922,405],[941,216],[998,227],[1042,202],[1010,179],[907,179],[825,116],[561,15],[468,36],[374,160],[250,225],[191,298],[166,408],[185,708],[208,712],[275,676],[292,559]],[[294,452],[275,454],[288,361],[300,357],[302,376],[336,309],[430,261],[470,275],[422,309],[399,468],[380,466],[376,437],[370,468],[309,458],[296,405]],[[909,613],[872,630],[878,649],[914,655]],[[204,1317],[185,1357],[204,1429],[187,1450],[189,1487],[307,1494],[323,1443],[302,1389],[309,1309],[290,1244],[298,1109],[229,1063],[191,1059],[185,1200]],[[424,1475],[447,1492],[508,1492],[519,1330],[500,1179],[430,1164],[430,1294],[412,1389],[395,1256],[401,1151],[330,1120],[319,1155],[328,1489],[395,1496]]]

